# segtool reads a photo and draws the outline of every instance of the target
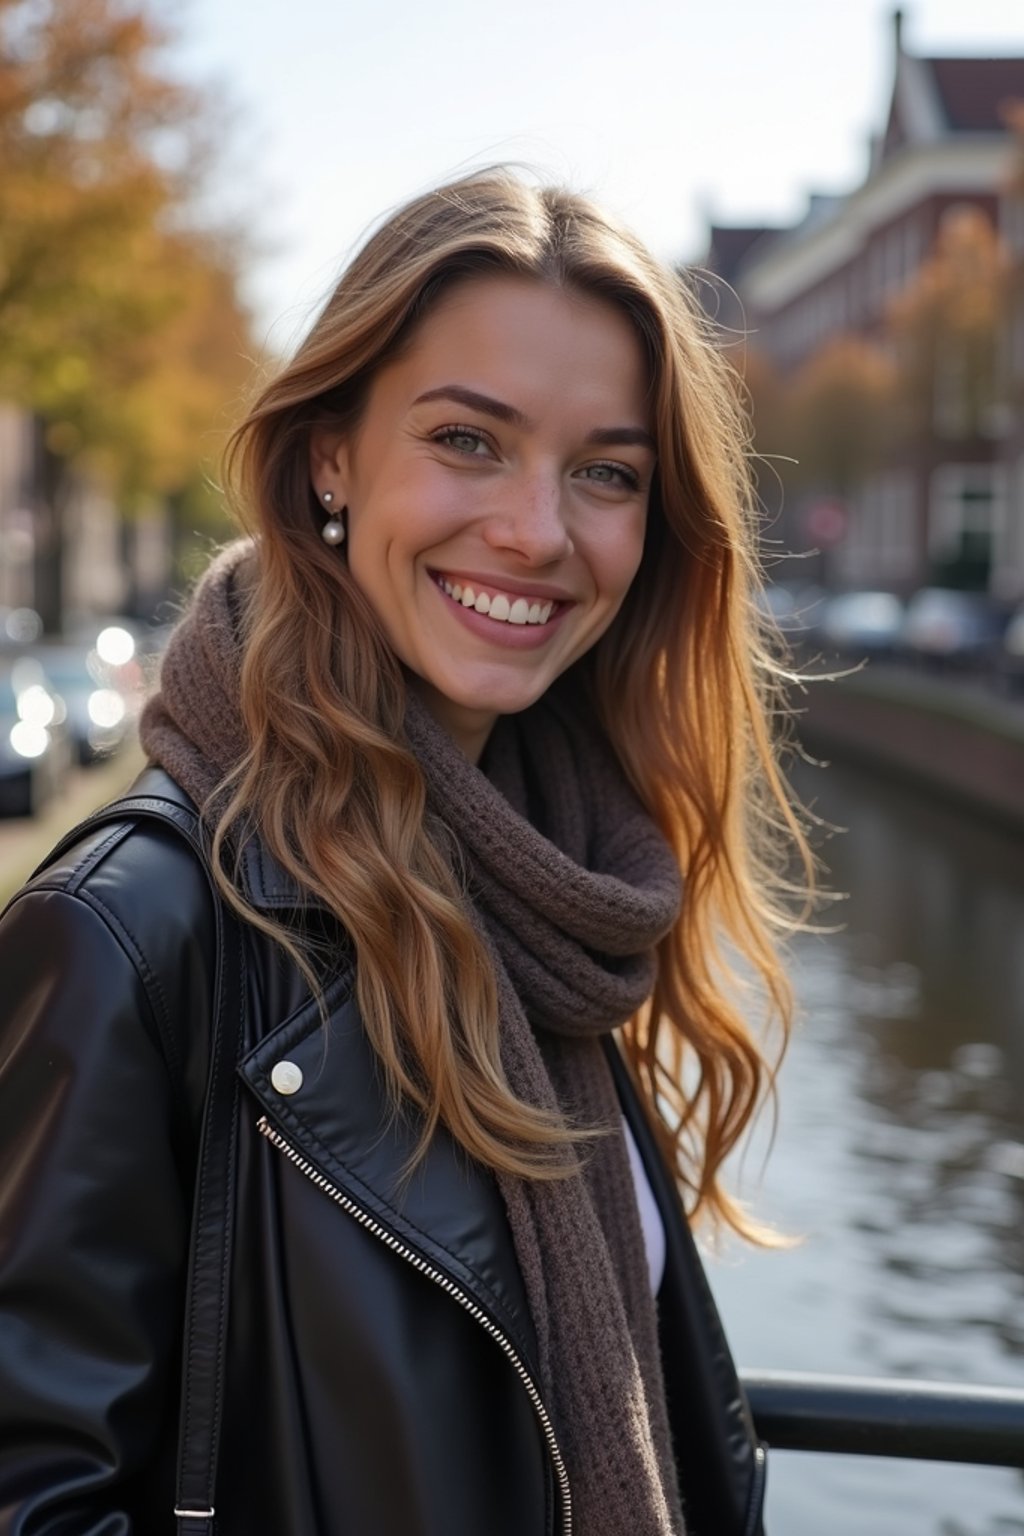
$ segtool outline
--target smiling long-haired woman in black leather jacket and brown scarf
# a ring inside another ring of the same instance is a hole
[[[745,1229],[735,969],[788,1011],[746,462],[679,281],[504,174],[264,387],[146,799],[0,926],[5,1531],[758,1528],[677,1197]]]

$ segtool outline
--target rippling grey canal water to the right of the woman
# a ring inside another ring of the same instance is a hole
[[[812,770],[835,833],[801,1021],[740,1189],[797,1246],[708,1256],[737,1361],[1024,1389],[1024,837]],[[769,1536],[1024,1536],[1024,1475],[772,1453]]]

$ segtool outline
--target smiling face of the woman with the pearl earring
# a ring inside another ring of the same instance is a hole
[[[629,321],[579,292],[468,278],[379,370],[319,496],[422,699],[476,762],[605,633],[640,564],[654,436]]]

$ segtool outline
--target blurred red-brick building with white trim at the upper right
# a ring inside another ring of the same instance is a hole
[[[1024,103],[1024,57],[917,57],[895,12],[890,104],[863,184],[812,198],[792,229],[712,227],[706,266],[737,295],[720,319],[745,324],[783,373],[837,335],[881,338],[894,300],[966,207],[1003,232],[1024,270],[1024,180],[1007,124],[1015,101]],[[967,419],[953,359],[938,359],[920,441],[846,499],[831,584],[909,591],[970,551],[996,594],[1024,596],[1024,281],[1016,303],[999,398]],[[785,536],[801,542],[800,530]]]

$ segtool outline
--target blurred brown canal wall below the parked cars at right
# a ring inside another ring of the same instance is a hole
[[[1024,833],[1024,700],[983,684],[875,664],[795,700],[815,756],[909,779]]]

